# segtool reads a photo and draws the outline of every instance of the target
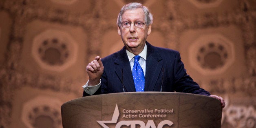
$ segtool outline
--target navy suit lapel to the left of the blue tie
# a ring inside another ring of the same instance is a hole
[[[130,62],[126,54],[125,48],[119,51],[118,57],[115,60],[115,72],[117,73],[119,79],[124,83],[124,90],[126,92],[135,92],[135,85],[132,78],[132,71],[130,68]],[[123,71],[123,73],[122,73]]]

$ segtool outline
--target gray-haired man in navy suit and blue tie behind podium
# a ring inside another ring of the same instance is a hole
[[[214,97],[225,107],[222,97],[210,95],[186,73],[178,51],[158,48],[146,41],[152,23],[152,14],[142,4],[129,3],[122,7],[117,18],[117,31],[124,48],[103,59],[97,56],[86,66],[89,80],[83,86],[83,96],[176,91]]]

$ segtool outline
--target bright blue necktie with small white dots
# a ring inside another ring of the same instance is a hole
[[[145,77],[141,66],[139,65],[139,59],[141,57],[136,55],[134,57],[134,65],[132,68],[132,76],[135,84],[136,92],[143,92],[145,86]]]

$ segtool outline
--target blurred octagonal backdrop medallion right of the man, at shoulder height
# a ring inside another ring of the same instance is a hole
[[[234,57],[234,43],[220,34],[202,35],[189,48],[190,64],[204,75],[223,73]]]

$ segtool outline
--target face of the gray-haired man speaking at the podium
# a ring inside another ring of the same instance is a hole
[[[145,23],[145,15],[141,8],[134,10],[126,10],[122,15],[122,21],[131,22],[131,26],[128,29],[123,29],[123,27],[118,26],[118,34],[121,35],[121,38],[126,46],[126,49],[135,55],[138,55],[145,46],[146,39],[151,32],[151,24],[143,25],[141,29],[137,29],[133,23],[142,22]]]

